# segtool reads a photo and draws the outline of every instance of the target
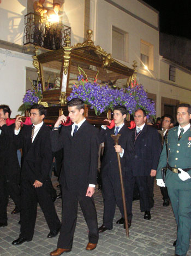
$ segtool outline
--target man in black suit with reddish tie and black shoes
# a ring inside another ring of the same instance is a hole
[[[51,197],[52,184],[49,172],[52,164],[52,150],[50,143],[50,130],[43,119],[46,109],[40,104],[34,104],[30,110],[31,123],[21,128],[19,117],[15,121],[15,139],[17,147],[22,148],[21,166],[21,233],[13,245],[21,245],[31,241],[34,234],[37,217],[37,203],[44,213],[50,233],[47,237],[58,234],[59,222],[55,205]]]

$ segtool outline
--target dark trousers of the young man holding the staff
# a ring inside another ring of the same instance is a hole
[[[124,188],[126,187],[127,179],[126,174],[124,174]],[[116,205],[120,209],[121,216],[124,218],[121,182],[118,170],[116,172],[110,170],[108,174],[102,175],[102,194],[104,199],[103,224],[106,228],[112,229]],[[129,201],[132,200],[129,200],[129,196],[131,197],[131,195],[126,193],[127,216],[130,220],[132,219],[132,203],[129,204]]]

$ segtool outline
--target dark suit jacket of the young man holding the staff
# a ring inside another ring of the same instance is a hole
[[[118,172],[118,162],[117,154],[115,152],[115,142],[111,138],[111,135],[114,134],[115,127],[112,129],[106,128],[106,130],[101,129],[99,133],[100,143],[105,143],[104,155],[102,159],[102,175],[107,174],[109,171]],[[124,154],[121,159],[122,171],[129,170],[129,162],[132,161],[135,149],[133,143],[133,133],[123,126],[119,132],[121,134],[118,144],[124,149]]]

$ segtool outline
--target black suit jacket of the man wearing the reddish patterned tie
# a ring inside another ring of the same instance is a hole
[[[21,178],[32,184],[37,179],[44,183],[49,179],[52,165],[50,129],[45,124],[40,127],[37,136],[31,143],[32,125],[23,125],[19,135],[15,135],[17,147],[22,148]]]

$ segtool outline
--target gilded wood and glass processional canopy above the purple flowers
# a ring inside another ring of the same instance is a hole
[[[87,30],[87,40],[83,43],[70,45],[70,38],[66,36],[62,49],[48,51],[33,56],[33,65],[37,68],[43,90],[41,102],[46,106],[64,106],[71,92],[73,84],[78,85],[79,67],[85,71],[92,82],[96,77],[100,85],[112,88],[129,86],[134,69],[130,69],[111,54],[106,53],[101,46],[95,46],[91,40],[92,30]]]

